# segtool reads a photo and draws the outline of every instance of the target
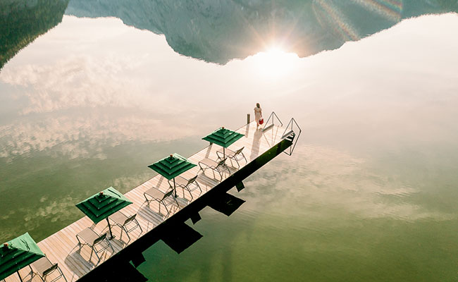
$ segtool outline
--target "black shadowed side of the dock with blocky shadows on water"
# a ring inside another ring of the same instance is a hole
[[[261,135],[261,130],[259,130],[259,139]],[[192,219],[192,222],[195,224],[200,220],[199,212],[205,207],[211,207],[226,216],[233,214],[245,200],[228,194],[228,190],[232,188],[237,188],[239,191],[242,190],[244,188],[242,181],[245,180],[247,176],[254,173],[254,171],[261,168],[261,166],[264,166],[264,164],[267,164],[268,161],[271,161],[291,145],[292,142],[290,140],[280,140],[277,145],[268,149],[268,151],[261,154],[254,159],[254,161],[247,163],[238,171],[234,171],[228,178],[225,178],[221,183],[218,183],[214,188],[209,190],[209,192],[199,197],[194,202],[187,203],[185,200],[180,200],[181,204],[187,204],[187,206],[180,209],[180,211],[171,218],[163,221],[159,226],[156,226],[153,231],[139,238],[132,243],[132,245],[125,247],[125,249],[121,250],[116,256],[111,257],[104,262],[104,264],[101,264],[85,276],[82,276],[80,281],[91,281],[91,279],[96,278],[103,278],[105,279],[104,281],[109,281],[108,278],[106,278],[106,271],[111,271],[111,276],[118,277],[116,271],[111,269],[118,269],[116,267],[117,265],[127,265],[130,263],[132,263],[131,265],[139,266],[145,260],[142,252],[159,240],[162,240],[163,243],[166,243],[168,247],[171,247],[171,249],[178,254],[185,251],[188,247],[196,243],[197,240],[202,238],[202,234],[188,226],[185,221]],[[151,214],[151,212],[148,205],[144,204],[140,208],[139,216],[146,217],[145,214]],[[156,212],[153,213],[156,214],[156,216],[160,216]],[[132,267],[129,266],[129,268],[133,271]],[[139,274],[138,277],[142,278],[142,275]]]

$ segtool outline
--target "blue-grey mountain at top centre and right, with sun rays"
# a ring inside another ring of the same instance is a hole
[[[71,0],[66,14],[120,18],[178,53],[227,63],[280,45],[300,57],[337,49],[403,18],[458,11],[455,0]]]

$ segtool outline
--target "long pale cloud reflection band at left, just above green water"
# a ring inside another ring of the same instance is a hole
[[[139,116],[109,116],[89,113],[87,116],[51,116],[30,123],[16,121],[0,126],[0,157],[54,149],[54,154],[75,159],[105,159],[106,147],[125,142],[167,141],[194,134],[192,127],[182,128],[167,119]]]

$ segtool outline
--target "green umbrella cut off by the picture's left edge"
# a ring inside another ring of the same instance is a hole
[[[20,281],[23,281],[19,270],[42,257],[42,250],[39,250],[29,233],[4,243],[0,247],[0,280],[18,272]]]

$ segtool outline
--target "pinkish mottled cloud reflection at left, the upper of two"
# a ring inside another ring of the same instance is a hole
[[[132,78],[125,75],[135,68],[135,63],[131,63],[135,61],[141,58],[78,55],[51,64],[5,68],[0,81],[25,88],[23,95],[28,103],[20,111],[23,115],[80,106],[147,109],[149,105],[164,102],[135,87]]]

